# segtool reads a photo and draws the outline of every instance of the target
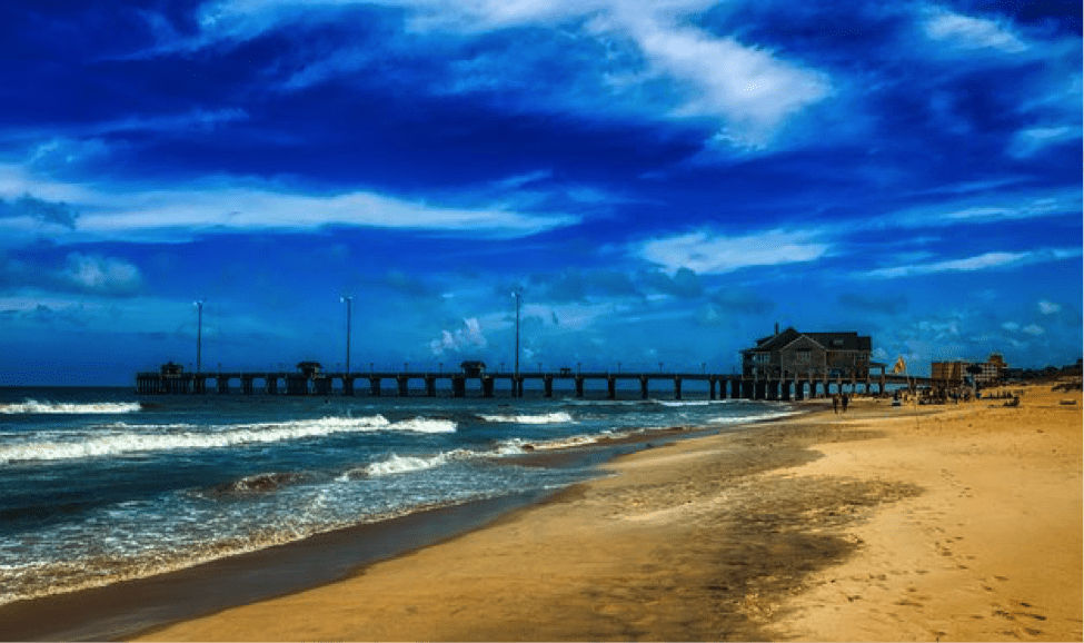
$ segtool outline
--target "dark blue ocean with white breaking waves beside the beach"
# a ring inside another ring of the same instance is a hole
[[[749,400],[0,388],[0,605],[599,475],[583,458],[525,455],[790,413]]]

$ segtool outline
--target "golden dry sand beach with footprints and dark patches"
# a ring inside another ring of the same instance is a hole
[[[1084,640],[1082,403],[858,400],[646,449],[489,527],[143,640]]]

